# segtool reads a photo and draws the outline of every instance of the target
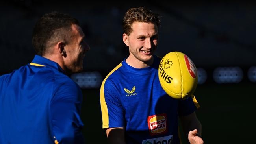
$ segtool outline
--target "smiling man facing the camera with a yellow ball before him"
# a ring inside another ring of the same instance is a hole
[[[160,16],[143,7],[123,19],[123,41],[129,57],[102,82],[100,105],[110,144],[180,144],[178,118],[191,144],[203,144],[198,103],[171,98],[158,79]]]

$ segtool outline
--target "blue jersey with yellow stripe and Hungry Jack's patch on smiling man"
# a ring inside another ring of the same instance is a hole
[[[195,98],[176,100],[166,94],[158,79],[160,60],[154,56],[152,66],[139,69],[124,59],[102,82],[103,128],[124,127],[128,144],[179,144],[178,116],[199,107]]]

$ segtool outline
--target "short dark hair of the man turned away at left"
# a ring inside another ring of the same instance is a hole
[[[35,24],[32,33],[32,45],[36,54],[45,55],[59,41],[68,43],[72,24],[79,25],[79,22],[65,13],[53,11],[43,15]]]

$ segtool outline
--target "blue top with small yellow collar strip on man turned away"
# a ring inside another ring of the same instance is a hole
[[[82,144],[82,92],[54,61],[0,77],[0,144]]]

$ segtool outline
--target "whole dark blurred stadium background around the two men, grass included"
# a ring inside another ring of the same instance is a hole
[[[41,15],[55,10],[76,17],[91,46],[84,72],[70,76],[84,95],[83,134],[87,143],[107,143],[101,128],[99,87],[108,72],[128,56],[122,42],[122,17],[130,7],[139,6],[162,16],[156,54],[163,57],[180,51],[197,66],[195,96],[201,105],[197,116],[205,143],[254,143],[256,4],[252,2],[1,1],[0,75],[33,59],[32,28]],[[184,135],[182,140],[187,143]]]

